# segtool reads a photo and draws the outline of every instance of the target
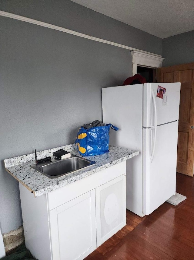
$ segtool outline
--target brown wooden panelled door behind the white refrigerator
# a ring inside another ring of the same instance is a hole
[[[177,172],[194,172],[194,63],[157,69],[157,82],[181,82]]]

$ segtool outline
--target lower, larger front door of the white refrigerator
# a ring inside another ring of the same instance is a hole
[[[156,134],[154,155],[153,140]],[[149,215],[176,191],[178,121],[143,129],[143,213]],[[153,160],[151,162],[151,156]]]

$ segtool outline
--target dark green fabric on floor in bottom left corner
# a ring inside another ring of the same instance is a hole
[[[19,246],[14,253],[7,255],[1,260],[32,260],[35,259],[32,257],[31,253],[27,250],[25,245]],[[38,259],[36,259],[38,260]]]

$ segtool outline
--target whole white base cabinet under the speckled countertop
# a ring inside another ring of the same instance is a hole
[[[126,161],[37,198],[19,187],[25,244],[39,260],[82,260],[126,225]]]

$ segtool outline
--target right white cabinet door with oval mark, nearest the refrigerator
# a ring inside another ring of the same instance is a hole
[[[126,225],[126,175],[96,188],[97,247]]]

